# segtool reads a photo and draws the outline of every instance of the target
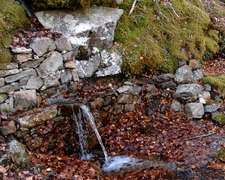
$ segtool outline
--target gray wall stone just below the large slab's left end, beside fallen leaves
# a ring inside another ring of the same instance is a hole
[[[54,41],[47,37],[35,38],[30,47],[39,57],[56,48]]]

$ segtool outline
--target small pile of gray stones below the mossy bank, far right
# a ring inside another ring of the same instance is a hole
[[[190,60],[189,65],[181,63],[175,74],[178,86],[174,94],[175,100],[171,105],[173,110],[181,111],[184,104],[184,110],[189,118],[201,119],[205,113],[213,113],[219,109],[219,105],[210,104],[211,87],[201,85],[198,80],[202,78],[200,61]]]

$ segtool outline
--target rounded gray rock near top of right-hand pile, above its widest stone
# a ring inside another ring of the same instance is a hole
[[[193,81],[192,70],[188,65],[184,65],[177,69],[175,74],[175,80],[178,83],[188,83]]]

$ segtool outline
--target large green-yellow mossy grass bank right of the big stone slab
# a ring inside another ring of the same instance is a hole
[[[204,5],[198,0],[172,0],[171,6],[155,1],[138,2],[132,15],[132,0],[121,5],[125,14],[115,40],[122,44],[124,70],[174,71],[178,60],[202,59],[206,51],[218,51],[218,32]]]

